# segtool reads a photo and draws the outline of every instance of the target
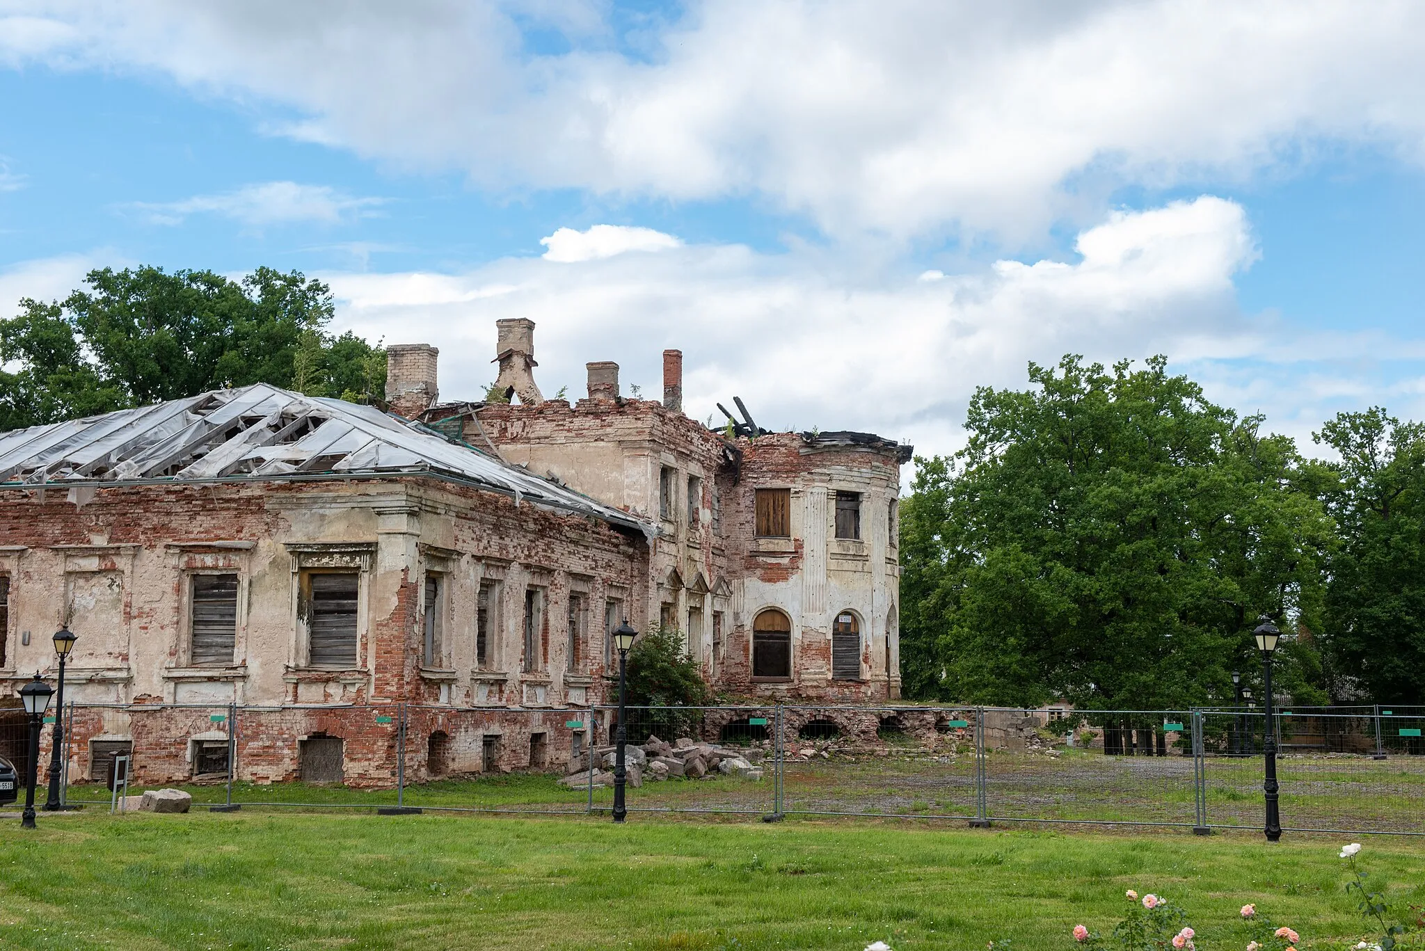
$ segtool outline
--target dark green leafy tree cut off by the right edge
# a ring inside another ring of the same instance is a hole
[[[1341,461],[1322,493],[1341,532],[1324,637],[1335,693],[1382,703],[1425,696],[1425,425],[1375,406],[1314,433]]]

